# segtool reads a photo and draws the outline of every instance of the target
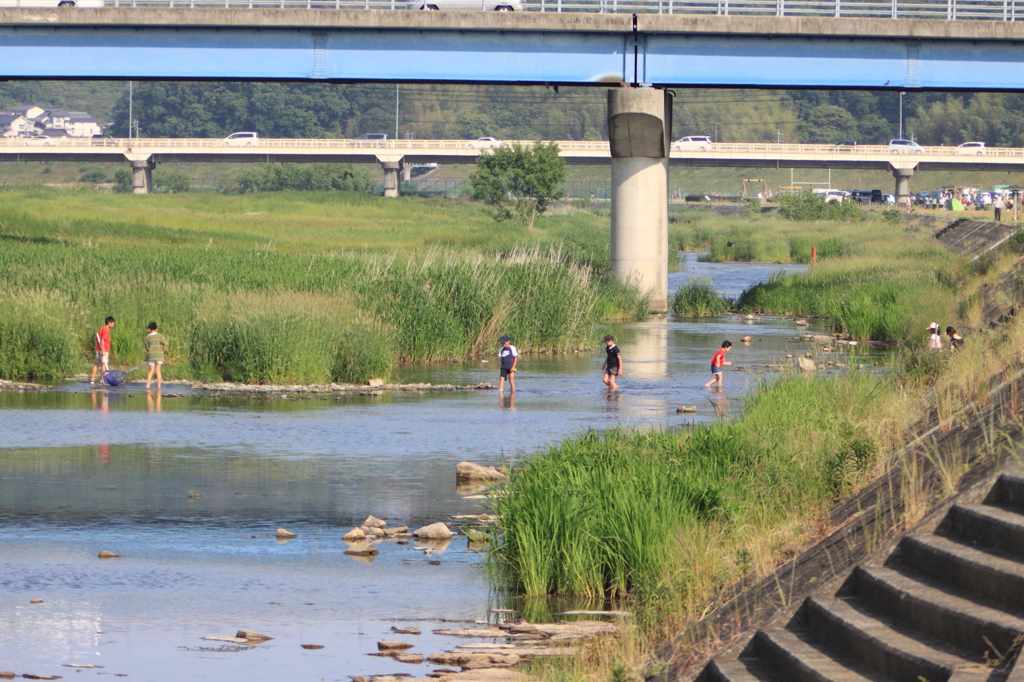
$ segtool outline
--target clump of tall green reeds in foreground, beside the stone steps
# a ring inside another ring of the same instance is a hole
[[[792,375],[761,386],[732,422],[565,440],[494,497],[495,565],[527,596],[630,594],[653,607],[708,580],[707,557],[680,551],[685,539],[714,529],[760,553],[759,534],[862,481],[895,434],[871,416],[896,393],[881,377]]]

